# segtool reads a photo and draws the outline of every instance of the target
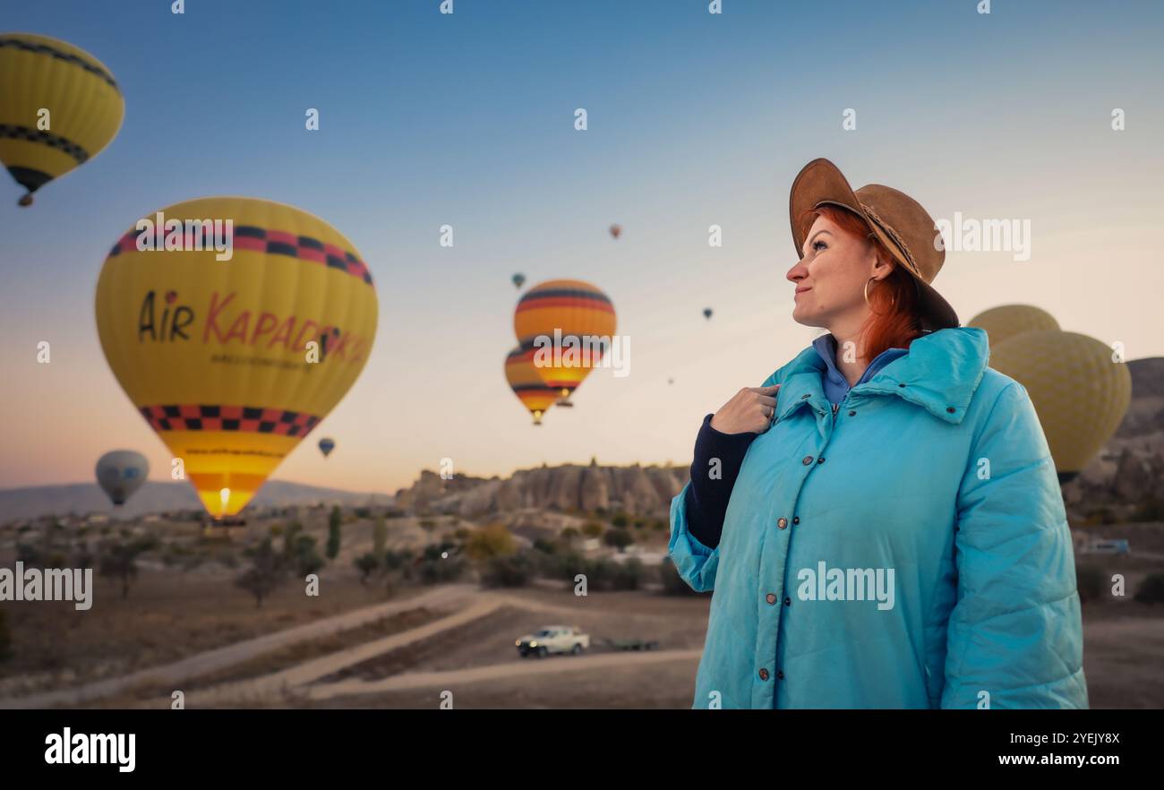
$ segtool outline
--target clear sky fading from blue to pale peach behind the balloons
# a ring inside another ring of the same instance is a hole
[[[1029,261],[947,254],[935,287],[963,322],[1030,303],[1129,359],[1164,355],[1162,3],[975,5],[187,0],[177,16],[0,0],[0,28],[90,51],[127,105],[111,146],[31,209],[0,186],[0,487],[90,480],[114,447],[165,479],[169,452],[105,362],[93,289],[139,217],[212,195],[318,214],[376,278],[368,366],[274,475],[311,485],[393,492],[445,457],[478,475],[689,463],[703,415],[816,334],[792,320],[785,275],[788,189],[817,156],[936,218],[1030,220]],[[537,429],[503,375],[514,271],[596,283],[631,338],[629,376],[594,372]],[[336,439],[326,461],[320,436]]]

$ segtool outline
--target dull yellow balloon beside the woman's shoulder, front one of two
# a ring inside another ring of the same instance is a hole
[[[991,367],[1030,394],[1059,480],[1066,482],[1112,438],[1131,402],[1128,366],[1102,341],[1034,330],[991,350]]]

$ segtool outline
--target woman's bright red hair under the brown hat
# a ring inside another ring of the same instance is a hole
[[[909,348],[909,344],[922,334],[917,304],[918,291],[913,275],[897,263],[893,253],[873,233],[864,219],[840,206],[818,206],[801,214],[800,231],[802,237],[808,235],[808,231],[817,217],[824,217],[858,239],[867,238],[878,258],[894,264],[889,276],[876,285],[868,283],[873,285],[867,291],[872,315],[860,331],[860,337],[865,341],[865,359],[876,359],[878,354],[887,348]]]

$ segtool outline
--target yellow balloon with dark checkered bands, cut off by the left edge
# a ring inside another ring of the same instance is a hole
[[[0,33],[0,162],[33,192],[109,144],[126,103],[113,75],[83,49]]]

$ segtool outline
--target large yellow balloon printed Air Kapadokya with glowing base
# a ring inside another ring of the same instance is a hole
[[[343,397],[376,316],[350,241],[305,211],[254,198],[190,200],[144,218],[97,283],[109,367],[215,517],[239,513]]]

